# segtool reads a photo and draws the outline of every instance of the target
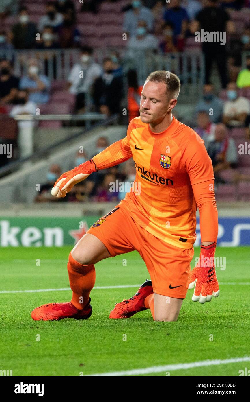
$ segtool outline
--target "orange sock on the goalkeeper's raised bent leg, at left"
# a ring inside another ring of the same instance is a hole
[[[93,289],[96,281],[95,267],[93,264],[82,265],[77,263],[70,252],[67,269],[70,288],[73,291],[71,303],[78,310],[83,310],[89,301],[90,291]]]

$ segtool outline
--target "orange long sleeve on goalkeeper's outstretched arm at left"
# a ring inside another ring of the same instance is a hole
[[[114,142],[108,148],[92,158],[97,170],[107,169],[130,159],[132,152],[128,142],[128,137]]]

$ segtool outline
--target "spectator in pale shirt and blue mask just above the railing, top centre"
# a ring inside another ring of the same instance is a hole
[[[128,40],[128,49],[133,50],[147,50],[157,49],[158,39],[154,35],[148,33],[146,21],[138,21],[136,35],[131,36]]]

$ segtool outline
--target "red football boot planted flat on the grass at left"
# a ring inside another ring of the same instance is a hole
[[[92,314],[90,297],[87,305],[83,310],[77,310],[69,301],[68,303],[49,303],[35,308],[31,312],[31,317],[35,321],[53,321],[62,320],[63,318],[74,318],[75,320],[87,320]]]

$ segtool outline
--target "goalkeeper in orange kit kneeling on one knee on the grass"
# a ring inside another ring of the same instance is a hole
[[[178,318],[187,289],[203,304],[219,295],[214,254],[218,222],[211,159],[203,140],[172,115],[179,78],[167,71],[151,73],[142,88],[140,117],[127,135],[91,160],[62,174],[52,195],[65,197],[92,172],[133,158],[135,185],[124,200],[96,223],[75,245],[67,265],[72,299],[35,308],[34,320],[87,319],[98,261],[137,250],[149,281],[116,304],[110,318],[129,318],[150,309],[156,321]],[[199,209],[201,253],[191,271]]]

